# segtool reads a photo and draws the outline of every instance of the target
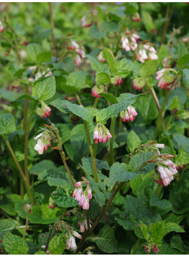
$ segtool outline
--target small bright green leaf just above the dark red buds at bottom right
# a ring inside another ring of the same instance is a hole
[[[164,222],[156,222],[155,224],[150,224],[150,240],[152,243],[161,243],[164,237]]]

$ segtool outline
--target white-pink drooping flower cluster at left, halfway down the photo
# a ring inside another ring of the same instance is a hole
[[[34,137],[37,141],[34,150],[38,151],[39,155],[44,153],[44,150],[47,151],[48,146],[51,147],[51,141],[55,139],[53,132],[50,132],[48,129],[44,129],[44,132]]]

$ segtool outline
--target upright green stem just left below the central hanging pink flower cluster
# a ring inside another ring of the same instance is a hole
[[[96,169],[96,148],[97,148],[97,144],[94,143],[94,145],[92,146],[87,122],[85,120],[83,120],[83,122],[84,122],[84,129],[85,129],[86,136],[87,136],[88,143],[89,143],[89,150],[90,150],[90,153],[91,153],[91,162],[92,162],[92,167],[93,167],[93,175],[94,175],[95,181],[99,182],[98,173],[97,173],[97,169]]]

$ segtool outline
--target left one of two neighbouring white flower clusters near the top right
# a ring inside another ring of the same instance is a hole
[[[132,31],[126,30],[125,34],[122,34],[121,43],[123,51],[135,51],[137,49],[137,41],[139,39],[138,34],[133,33]]]

